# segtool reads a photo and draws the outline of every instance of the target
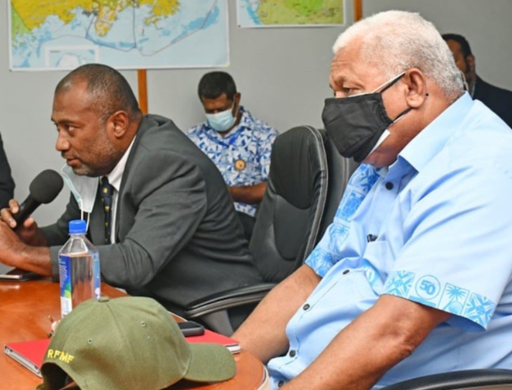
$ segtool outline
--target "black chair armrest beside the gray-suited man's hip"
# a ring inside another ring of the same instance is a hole
[[[232,288],[190,302],[185,307],[185,317],[197,318],[214,311],[229,309],[247,303],[259,302],[275,286],[275,283],[260,283],[253,286]]]

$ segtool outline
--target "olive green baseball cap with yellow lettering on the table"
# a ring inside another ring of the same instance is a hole
[[[235,371],[227,348],[189,344],[154,299],[102,297],[81,303],[60,321],[37,388],[57,390],[70,377],[81,390],[159,390],[181,379],[228,380]]]

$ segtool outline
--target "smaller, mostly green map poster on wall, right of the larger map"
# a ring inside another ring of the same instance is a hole
[[[238,27],[325,27],[345,24],[345,0],[237,0]]]

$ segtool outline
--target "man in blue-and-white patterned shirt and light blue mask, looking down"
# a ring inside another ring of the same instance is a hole
[[[267,188],[277,131],[240,105],[240,92],[226,72],[203,75],[198,94],[207,121],[187,135],[219,168],[244,230],[250,232]]]

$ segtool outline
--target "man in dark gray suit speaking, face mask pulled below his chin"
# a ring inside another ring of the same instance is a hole
[[[92,64],[69,73],[55,89],[52,121],[70,202],[55,224],[38,228],[32,218],[16,226],[11,200],[1,212],[2,262],[57,278],[67,224],[86,211],[103,280],[131,294],[179,311],[260,281],[215,165],[172,121],[142,115],[119,72]]]

